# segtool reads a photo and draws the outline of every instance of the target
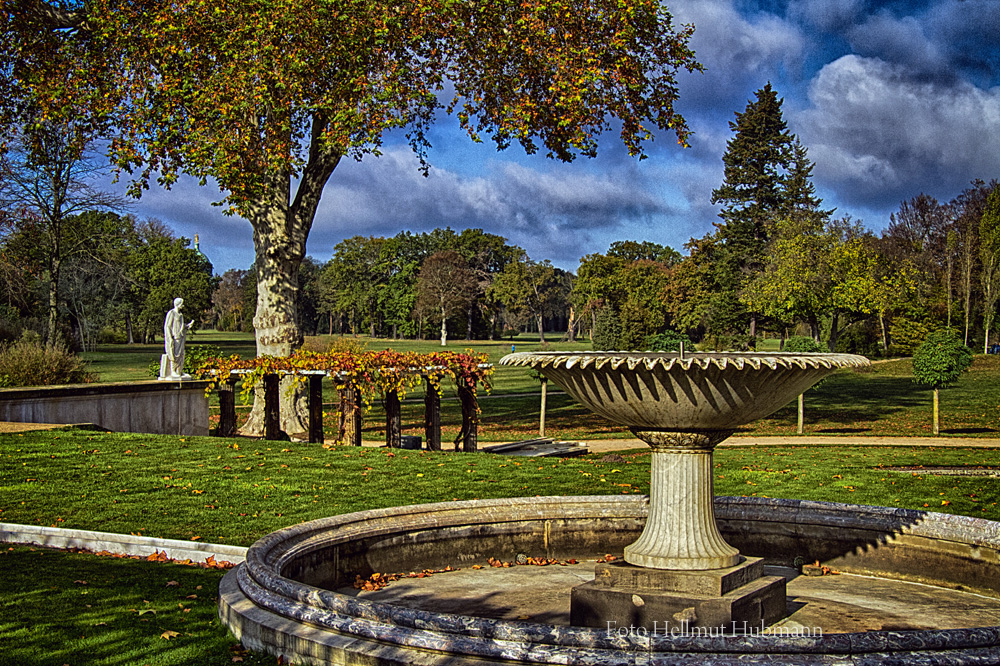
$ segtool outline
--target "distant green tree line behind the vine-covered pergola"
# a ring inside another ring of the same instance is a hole
[[[325,264],[300,269],[298,318],[306,335],[495,339],[568,326],[572,275],[532,261],[481,229],[354,236]],[[252,270],[222,275],[213,295],[222,330],[252,330]]]

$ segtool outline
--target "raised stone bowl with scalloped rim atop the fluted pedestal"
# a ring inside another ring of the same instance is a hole
[[[518,352],[588,409],[633,430],[732,430],[864,356],[825,353]]]

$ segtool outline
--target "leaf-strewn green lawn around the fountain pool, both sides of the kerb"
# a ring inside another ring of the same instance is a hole
[[[287,525],[377,507],[643,494],[649,461],[648,449],[518,459],[36,431],[0,435],[0,521],[248,545]],[[1000,479],[926,469],[935,465],[998,468],[1000,449],[723,447],[715,455],[715,489],[1000,520]],[[239,651],[220,626],[220,576],[181,565],[0,548],[0,664],[275,663]]]

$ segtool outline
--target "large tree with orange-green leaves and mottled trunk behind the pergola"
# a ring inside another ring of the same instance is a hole
[[[340,160],[405,132],[423,160],[438,111],[479,141],[568,161],[620,129],[632,155],[657,130],[688,134],[676,73],[700,69],[656,0],[410,3],[105,0],[3,5],[0,122],[86,111],[133,174],[188,173],[253,229],[259,354],[298,344],[297,272]],[[612,121],[614,125],[612,125]],[[260,401],[258,401],[259,403]],[[288,432],[305,430],[285,401]],[[255,405],[249,429],[259,429]]]

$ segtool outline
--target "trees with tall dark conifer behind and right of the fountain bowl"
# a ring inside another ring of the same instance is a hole
[[[831,350],[912,354],[954,328],[995,341],[1000,188],[972,182],[950,202],[904,201],[881,235],[824,210],[813,164],[765,86],[730,123],[720,221],[686,256],[625,241],[583,257],[571,294],[595,346],[638,349],[666,331],[746,350],[805,334]]]

